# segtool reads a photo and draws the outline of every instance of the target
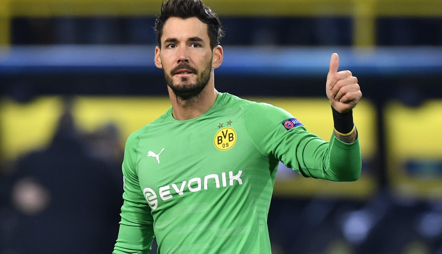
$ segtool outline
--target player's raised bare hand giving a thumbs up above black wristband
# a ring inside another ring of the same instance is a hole
[[[330,70],[327,75],[326,91],[331,106],[339,113],[353,109],[362,97],[358,79],[350,71],[340,71],[339,56],[331,55]]]

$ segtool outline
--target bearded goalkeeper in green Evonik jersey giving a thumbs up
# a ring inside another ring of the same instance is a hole
[[[362,94],[331,56],[331,141],[266,103],[219,93],[223,36],[201,0],[169,0],[156,21],[155,64],[172,107],[127,140],[124,205],[114,253],[270,253],[267,213],[278,162],[305,177],[354,181],[361,154],[351,109]]]

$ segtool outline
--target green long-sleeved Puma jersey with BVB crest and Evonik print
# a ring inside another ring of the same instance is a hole
[[[129,136],[114,254],[271,253],[267,230],[279,161],[305,177],[354,181],[358,140],[326,142],[281,108],[220,93],[197,118],[169,109]]]

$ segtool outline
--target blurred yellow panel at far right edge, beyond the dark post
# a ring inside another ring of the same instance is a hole
[[[387,170],[392,191],[406,199],[442,200],[442,176],[415,174],[406,169],[406,163],[442,161],[442,101],[429,100],[418,108],[409,108],[399,102],[390,102],[385,108],[385,143]],[[433,167],[435,167],[433,165]]]

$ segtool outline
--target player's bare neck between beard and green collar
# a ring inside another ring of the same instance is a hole
[[[219,94],[213,82],[209,82],[197,97],[188,100],[177,97],[170,87],[168,90],[172,103],[172,116],[180,121],[196,118],[206,113],[213,106]]]

